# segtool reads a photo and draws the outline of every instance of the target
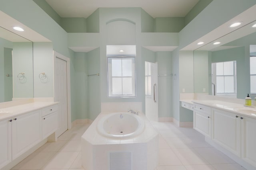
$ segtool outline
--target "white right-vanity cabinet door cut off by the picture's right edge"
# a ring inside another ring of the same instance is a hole
[[[243,117],[242,123],[242,158],[256,167],[256,119]]]

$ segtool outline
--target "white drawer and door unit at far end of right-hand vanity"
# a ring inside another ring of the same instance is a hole
[[[200,104],[194,105],[193,127],[207,137],[211,137],[211,108]]]

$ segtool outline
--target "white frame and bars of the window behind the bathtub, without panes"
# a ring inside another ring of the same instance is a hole
[[[112,59],[132,59],[132,76],[112,76]],[[135,57],[128,57],[128,56],[108,56],[107,57],[108,62],[108,97],[109,98],[134,98],[136,97],[136,70],[135,70]],[[118,77],[118,78],[126,78],[126,77],[132,77],[132,94],[112,94],[112,78]]]

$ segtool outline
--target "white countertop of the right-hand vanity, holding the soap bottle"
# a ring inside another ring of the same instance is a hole
[[[201,104],[208,107],[213,107],[223,111],[229,111],[232,113],[248,116],[256,119],[256,107],[247,107],[242,104],[224,102],[220,100],[191,100],[193,103]]]

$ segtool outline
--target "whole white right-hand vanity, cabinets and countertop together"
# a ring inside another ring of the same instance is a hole
[[[256,170],[256,107],[237,101],[192,100],[194,129],[248,170]]]

